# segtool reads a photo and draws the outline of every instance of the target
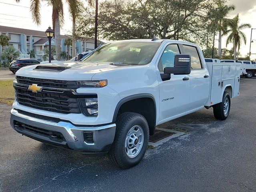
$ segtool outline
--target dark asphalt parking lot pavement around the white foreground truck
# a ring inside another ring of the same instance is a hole
[[[0,104],[0,191],[256,191],[256,78],[241,79],[227,120],[202,109],[160,128],[188,134],[148,149],[134,168],[42,144],[9,125]]]

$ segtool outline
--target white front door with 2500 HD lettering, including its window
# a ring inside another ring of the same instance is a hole
[[[174,66],[174,56],[180,54],[178,44],[166,46],[158,63],[158,69],[163,74],[165,67]],[[188,75],[171,74],[170,79],[162,78],[159,82],[160,116],[159,122],[167,122],[188,110],[190,81]]]

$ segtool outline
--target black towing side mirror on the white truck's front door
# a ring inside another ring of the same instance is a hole
[[[174,75],[188,75],[191,72],[191,56],[187,54],[176,54],[174,56],[174,67],[165,67],[164,73]]]

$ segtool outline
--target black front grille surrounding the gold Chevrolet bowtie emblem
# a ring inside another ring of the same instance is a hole
[[[81,113],[78,100],[72,93],[74,90],[69,89],[71,88],[70,84],[66,82],[65,86],[67,88],[54,88],[57,85],[62,85],[63,81],[55,82],[55,84],[50,83],[52,81],[55,80],[44,81],[44,79],[18,76],[17,83],[14,83],[17,102],[24,106],[50,112],[63,114]],[[38,83],[38,86],[42,86],[42,90],[37,93],[28,90],[28,85],[33,83]],[[74,86],[72,87],[74,88]]]

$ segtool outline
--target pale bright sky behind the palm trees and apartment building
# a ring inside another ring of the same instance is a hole
[[[83,1],[86,4],[86,0]],[[239,14],[240,24],[249,23],[252,28],[256,28],[256,0],[230,0],[228,4],[236,6],[236,10],[230,12],[230,18]],[[48,26],[52,27],[52,9],[46,2],[42,3],[41,16],[41,25],[36,26],[30,14],[30,0],[20,0],[20,3],[16,3],[15,0],[0,0],[0,25],[41,31],[45,31]],[[70,34],[72,20],[68,14],[67,4],[64,4],[64,20],[61,34]],[[245,29],[243,32],[246,34],[247,43],[241,47],[240,52],[245,56],[249,53],[251,29]],[[218,36],[215,38],[215,47],[218,47]],[[252,30],[252,39],[255,42],[252,43],[251,53],[256,53],[256,29]],[[222,47],[226,47],[226,37],[222,38]],[[228,48],[232,48],[232,44],[228,45]],[[252,58],[256,58],[256,54],[252,55]]]

